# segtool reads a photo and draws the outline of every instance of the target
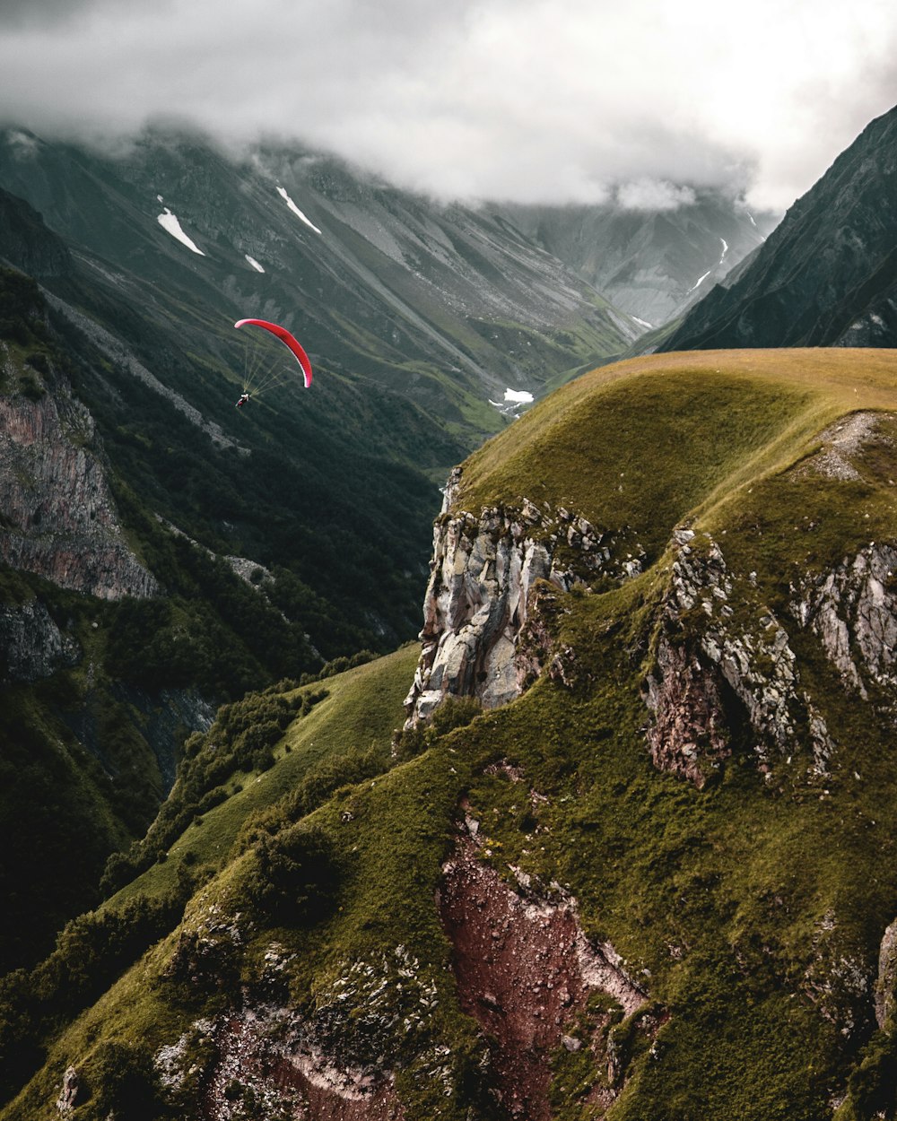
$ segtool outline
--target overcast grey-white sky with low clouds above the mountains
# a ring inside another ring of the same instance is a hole
[[[894,0],[0,0],[0,114],[296,138],[443,197],[784,210],[897,104]]]

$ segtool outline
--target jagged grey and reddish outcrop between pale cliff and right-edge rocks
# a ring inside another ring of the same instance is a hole
[[[799,724],[807,729],[814,766],[823,771],[833,744],[799,689],[785,627],[757,601],[750,577],[736,587],[722,550],[708,535],[695,540],[692,530],[677,530],[674,547],[656,669],[645,685],[655,716],[647,735],[656,766],[704,784],[728,753],[728,688],[747,716],[762,770],[773,756],[797,745]]]

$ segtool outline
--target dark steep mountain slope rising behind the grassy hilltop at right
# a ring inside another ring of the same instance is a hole
[[[897,343],[897,109],[872,121],[663,350]]]

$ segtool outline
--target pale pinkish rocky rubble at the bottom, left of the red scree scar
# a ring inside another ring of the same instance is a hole
[[[238,919],[213,906],[195,932],[182,935],[169,973],[184,965],[191,974],[207,975],[226,967],[223,963],[243,942]],[[387,1054],[396,1037],[397,993],[405,990],[417,1020],[428,1016],[429,1001],[414,984],[417,963],[404,947],[377,965],[354,962],[308,1012],[272,997],[286,998],[294,956],[271,943],[259,991],[243,990],[239,1007],[197,1020],[158,1050],[155,1065],[165,1096],[203,1121],[240,1121],[250,1105],[259,1115],[295,1121],[401,1121]],[[403,1037],[415,1039],[415,1031],[406,1016]]]

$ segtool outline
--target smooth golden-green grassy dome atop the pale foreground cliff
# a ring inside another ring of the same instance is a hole
[[[602,367],[468,461],[457,504],[567,503],[656,549],[677,520],[803,454],[842,413],[893,408],[893,351],[708,351]]]

